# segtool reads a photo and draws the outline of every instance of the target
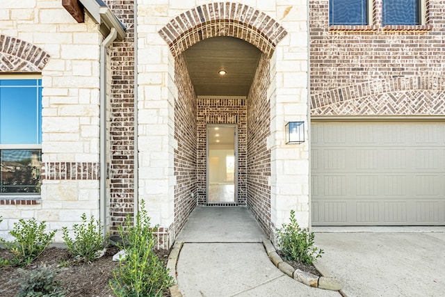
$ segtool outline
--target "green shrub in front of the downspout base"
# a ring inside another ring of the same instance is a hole
[[[63,227],[63,241],[70,254],[81,262],[92,262],[99,257],[104,249],[104,236],[99,220],[90,216],[87,222],[86,214],[82,214],[82,223],[74,224],[74,238],[71,239],[67,227]]]

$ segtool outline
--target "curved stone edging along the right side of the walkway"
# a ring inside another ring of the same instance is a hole
[[[339,291],[341,296],[346,297],[346,295],[341,290],[341,286],[337,280],[335,280],[332,275],[327,271],[327,269],[318,262],[314,262],[314,266],[316,270],[322,275],[318,277],[312,273],[307,273],[305,271],[301,271],[300,269],[294,269],[291,265],[284,262],[280,255],[278,255],[275,247],[268,239],[263,239],[264,249],[266,253],[272,261],[272,263],[277,266],[282,273],[289,275],[291,278],[306,284],[309,287],[316,287],[319,289],[331,290],[331,291]]]

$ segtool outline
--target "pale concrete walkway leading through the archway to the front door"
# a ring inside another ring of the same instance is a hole
[[[246,207],[197,207],[177,241],[177,284],[196,296],[340,296],[284,275],[266,255],[266,235]]]

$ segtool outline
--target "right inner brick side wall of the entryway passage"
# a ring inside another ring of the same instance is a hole
[[[262,55],[247,99],[247,200],[259,225],[270,235],[270,85],[269,59]]]

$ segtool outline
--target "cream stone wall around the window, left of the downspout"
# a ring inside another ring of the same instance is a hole
[[[1,205],[0,236],[6,237],[18,218],[45,220],[50,230],[61,230],[79,223],[83,213],[99,217],[102,35],[88,15],[78,24],[61,1],[13,2],[0,1],[1,72],[41,72],[44,172],[35,204]]]

